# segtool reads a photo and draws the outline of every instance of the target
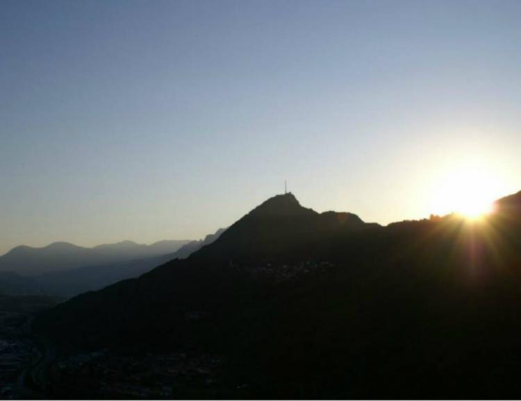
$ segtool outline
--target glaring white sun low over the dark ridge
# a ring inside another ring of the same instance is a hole
[[[493,202],[501,191],[499,187],[497,177],[484,169],[456,169],[436,185],[433,210],[439,214],[455,212],[467,219],[479,219],[493,212]]]

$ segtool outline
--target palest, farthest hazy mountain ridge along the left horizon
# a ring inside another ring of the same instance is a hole
[[[67,242],[55,242],[43,248],[17,246],[0,257],[0,271],[19,275],[40,275],[82,266],[99,266],[173,253],[190,241],[160,241],[150,246],[123,241],[85,248]]]

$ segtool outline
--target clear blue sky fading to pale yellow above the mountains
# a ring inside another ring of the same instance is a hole
[[[470,181],[517,192],[520,20],[518,0],[3,0],[0,253],[199,239],[284,180],[381,224]]]

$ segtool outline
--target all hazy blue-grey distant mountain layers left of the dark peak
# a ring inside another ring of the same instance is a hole
[[[19,246],[0,257],[0,294],[69,298],[120,280],[135,278],[169,260],[188,257],[223,232],[199,241],[159,241],[149,246],[133,241],[83,248],[54,243],[44,248]],[[38,264],[41,258],[42,264]],[[58,268],[57,268],[58,267]]]

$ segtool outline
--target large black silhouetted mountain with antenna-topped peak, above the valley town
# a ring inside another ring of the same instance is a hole
[[[216,385],[160,379],[179,398],[517,398],[520,198],[483,221],[381,227],[275,196],[187,259],[33,328],[69,352],[218,355]]]

